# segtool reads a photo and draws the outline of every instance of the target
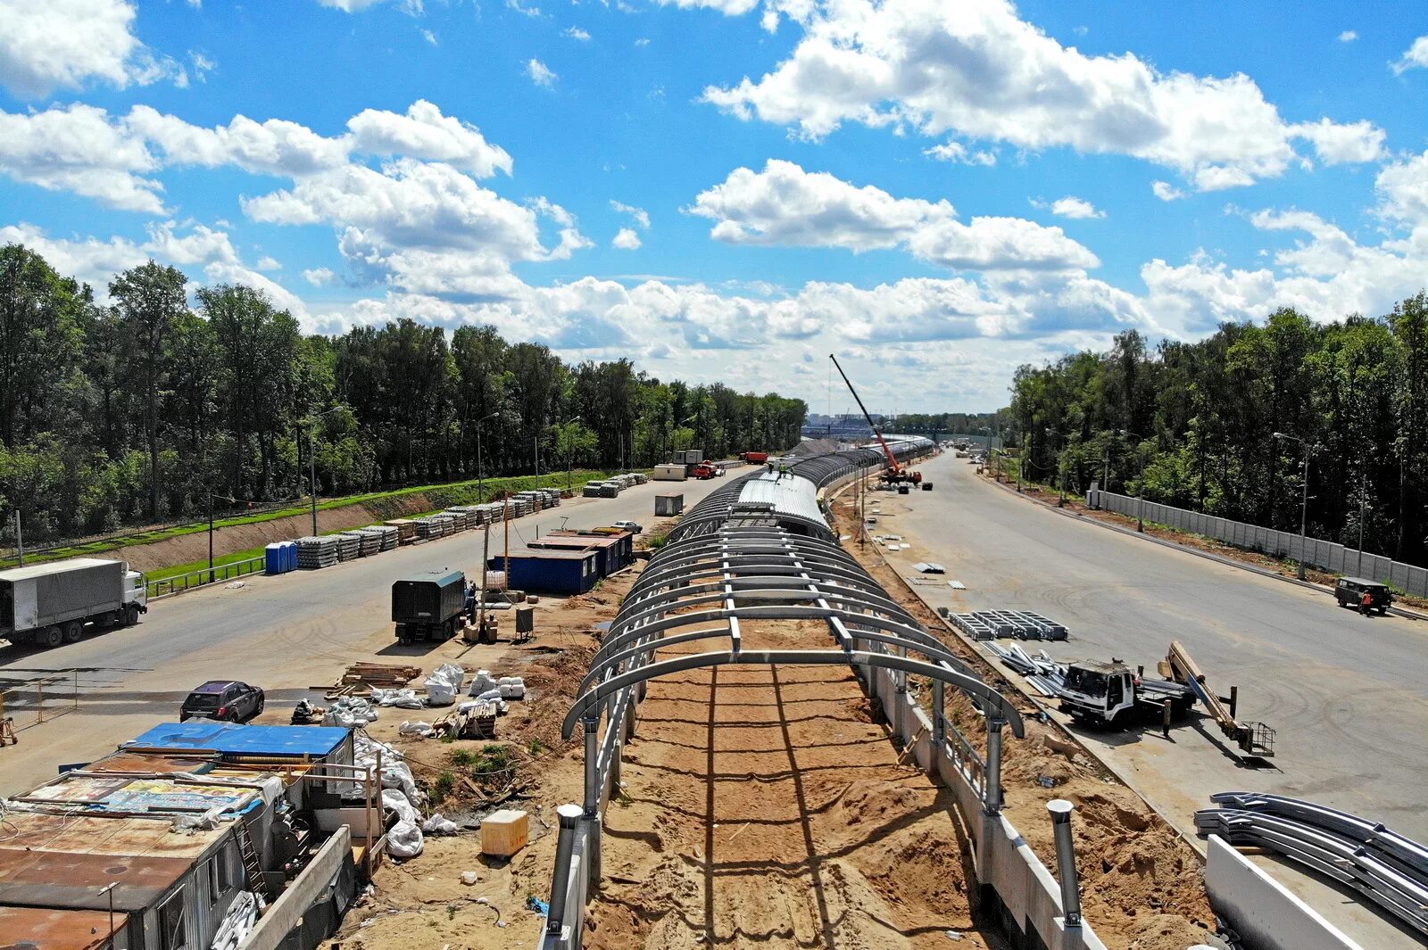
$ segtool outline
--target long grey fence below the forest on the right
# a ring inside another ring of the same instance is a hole
[[[1175,531],[1188,531],[1222,541],[1235,548],[1261,551],[1275,558],[1288,558],[1307,566],[1367,578],[1387,583],[1394,589],[1414,596],[1428,596],[1428,569],[1401,563],[1392,558],[1368,553],[1357,548],[1345,548],[1319,538],[1299,538],[1298,532],[1261,528],[1231,518],[1215,518],[1187,508],[1161,505],[1130,495],[1117,495],[1092,488],[1087,492],[1087,504],[1131,518],[1144,518]]]

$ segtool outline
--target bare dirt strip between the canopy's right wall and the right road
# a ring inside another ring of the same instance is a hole
[[[834,514],[844,533],[855,531],[857,515],[851,504],[837,502]],[[847,549],[928,630],[971,662],[982,679],[1010,696],[1020,696],[883,562],[877,545],[860,548],[848,542]],[[948,709],[958,727],[982,749],[985,729],[970,705],[950,699]],[[1007,733],[1002,745],[1004,813],[1037,857],[1055,867],[1055,842],[1045,803],[1068,799],[1077,805],[1082,911],[1097,936],[1112,950],[1184,950],[1194,943],[1214,944],[1210,937],[1215,919],[1195,850],[1070,733],[1054,722],[1032,719],[1037,710],[1030,702],[1021,712],[1027,717],[1025,739]]]

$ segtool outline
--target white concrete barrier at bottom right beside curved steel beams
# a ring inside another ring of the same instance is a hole
[[[1205,892],[1215,913],[1261,950],[1364,950],[1250,859],[1210,836]]]

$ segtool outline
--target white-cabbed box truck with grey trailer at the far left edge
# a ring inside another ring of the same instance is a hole
[[[149,612],[144,575],[124,561],[73,558],[0,571],[0,636],[59,646],[84,628],[133,626]]]

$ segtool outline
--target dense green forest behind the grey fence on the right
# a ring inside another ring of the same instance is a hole
[[[1318,324],[1279,310],[1198,342],[1021,367],[1012,441],[1027,475],[1428,562],[1428,294],[1385,317]],[[1278,435],[1277,435],[1278,434]]]

